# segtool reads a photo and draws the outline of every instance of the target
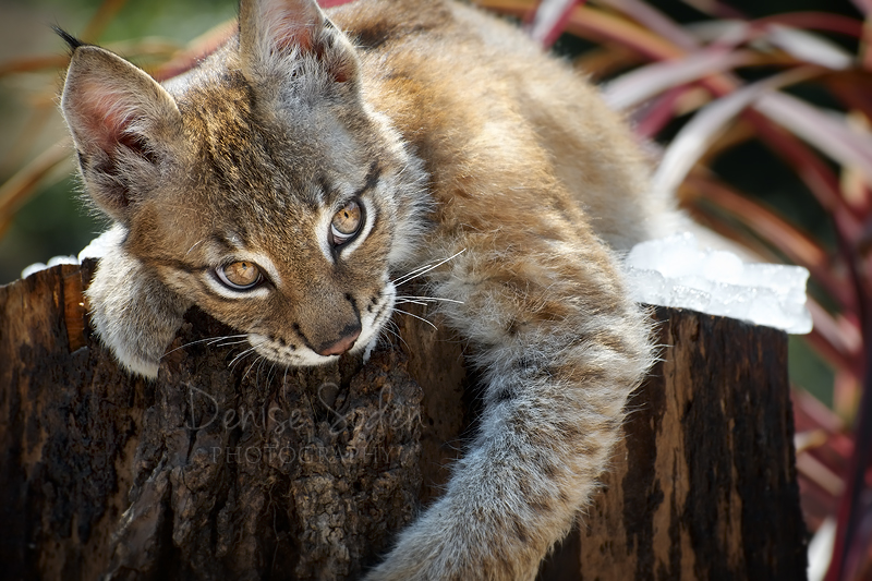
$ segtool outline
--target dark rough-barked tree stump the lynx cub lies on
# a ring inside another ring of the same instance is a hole
[[[192,310],[156,382],[89,331],[94,264],[0,288],[0,577],[356,579],[474,426],[444,330],[279,370]],[[784,334],[656,308],[663,361],[547,580],[804,579]]]

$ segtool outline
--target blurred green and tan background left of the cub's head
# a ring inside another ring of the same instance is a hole
[[[100,44],[154,66],[235,16],[235,0],[2,0],[0,4],[0,183],[62,141],[58,94],[66,48],[51,31]],[[0,195],[0,283],[56,255],[77,254],[106,222],[81,201],[72,149],[32,193]]]

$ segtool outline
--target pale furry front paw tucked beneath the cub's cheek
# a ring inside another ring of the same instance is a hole
[[[120,245],[100,258],[86,295],[97,335],[119,363],[134,375],[157,377],[190,303]]]

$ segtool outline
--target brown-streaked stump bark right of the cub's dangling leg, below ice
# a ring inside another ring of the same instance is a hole
[[[785,334],[692,311],[654,316],[662,361],[547,579],[806,579]]]

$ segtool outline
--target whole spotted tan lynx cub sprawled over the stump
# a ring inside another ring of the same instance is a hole
[[[427,288],[482,371],[481,428],[368,578],[533,579],[652,358],[616,257],[670,215],[596,90],[449,1],[242,0],[239,34],[162,85],[66,39],[121,364],[155,377],[192,304],[271,361],[330,362],[378,339],[397,276],[457,255]]]

